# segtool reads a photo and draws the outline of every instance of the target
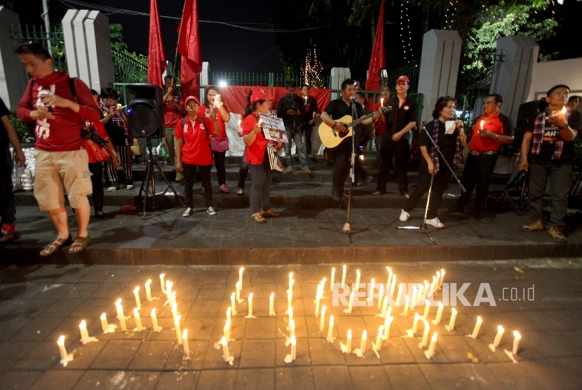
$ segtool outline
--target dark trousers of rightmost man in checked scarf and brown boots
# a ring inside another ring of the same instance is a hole
[[[531,164],[529,166],[529,216],[533,221],[543,220],[543,193],[546,183],[550,184],[550,199],[552,211],[550,224],[559,227],[566,226],[564,216],[568,208],[568,190],[571,184],[572,164],[546,163],[544,165]]]

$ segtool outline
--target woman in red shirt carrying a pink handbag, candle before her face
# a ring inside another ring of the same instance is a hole
[[[220,108],[215,107],[215,100],[218,101]],[[210,137],[226,137],[226,123],[231,120],[231,114],[224,107],[224,100],[220,96],[220,90],[215,86],[208,86],[206,88],[206,101],[198,109],[199,116],[206,116],[206,118],[212,121],[218,121],[218,126],[220,128],[220,133],[215,134],[214,132]],[[226,152],[216,152],[212,150],[212,156],[214,157],[214,163],[216,166],[216,173],[218,175],[218,187],[220,192],[228,194],[231,190],[226,187],[226,167],[224,166],[224,156]]]

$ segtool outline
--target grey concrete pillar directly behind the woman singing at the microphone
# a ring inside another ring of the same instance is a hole
[[[424,34],[419,74],[419,93],[424,95],[421,121],[431,121],[441,96],[454,96],[461,59],[461,37],[451,30],[431,29]]]

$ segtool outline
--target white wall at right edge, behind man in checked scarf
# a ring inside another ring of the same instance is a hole
[[[527,102],[546,97],[546,92],[556,84],[570,87],[570,95],[582,95],[582,57],[569,60],[536,62]]]

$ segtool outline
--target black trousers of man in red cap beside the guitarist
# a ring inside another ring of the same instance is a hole
[[[386,141],[383,140],[380,149],[380,170],[376,189],[386,191],[386,183],[388,182],[388,175],[392,166],[392,158],[394,158],[398,174],[398,191],[400,194],[407,194],[410,144],[405,140],[394,142],[391,139],[387,139],[389,137],[388,133],[384,134],[384,137],[386,137]]]

